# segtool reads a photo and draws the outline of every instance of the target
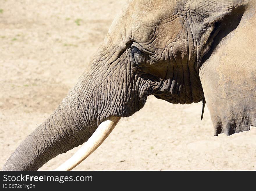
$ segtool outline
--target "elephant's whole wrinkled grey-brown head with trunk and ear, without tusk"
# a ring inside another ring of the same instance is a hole
[[[150,94],[170,103],[205,99],[214,135],[249,130],[256,125],[255,8],[242,0],[129,1],[90,68],[3,170],[39,169],[83,144],[107,117],[133,115]]]

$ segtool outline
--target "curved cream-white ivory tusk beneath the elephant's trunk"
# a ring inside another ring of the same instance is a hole
[[[56,168],[55,170],[72,170],[86,159],[100,144],[109,136],[111,131],[115,128],[121,117],[111,116],[104,122],[99,124],[96,131],[88,139],[88,141],[65,163]]]

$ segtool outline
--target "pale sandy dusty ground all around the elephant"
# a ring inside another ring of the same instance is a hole
[[[61,103],[86,68],[124,0],[2,0],[0,168]],[[201,103],[149,97],[76,170],[256,170],[256,128],[214,137]],[[54,169],[75,151],[41,169]]]

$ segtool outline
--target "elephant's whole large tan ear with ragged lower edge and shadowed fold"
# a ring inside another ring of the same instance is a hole
[[[198,32],[198,69],[214,135],[256,125],[255,7],[205,22]]]

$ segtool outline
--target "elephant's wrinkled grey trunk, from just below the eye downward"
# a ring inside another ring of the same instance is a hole
[[[144,106],[149,85],[131,72],[129,49],[115,56],[111,41],[105,41],[108,48],[105,44],[98,50],[90,69],[57,110],[19,145],[3,170],[37,170],[87,141],[107,117],[131,116]]]

